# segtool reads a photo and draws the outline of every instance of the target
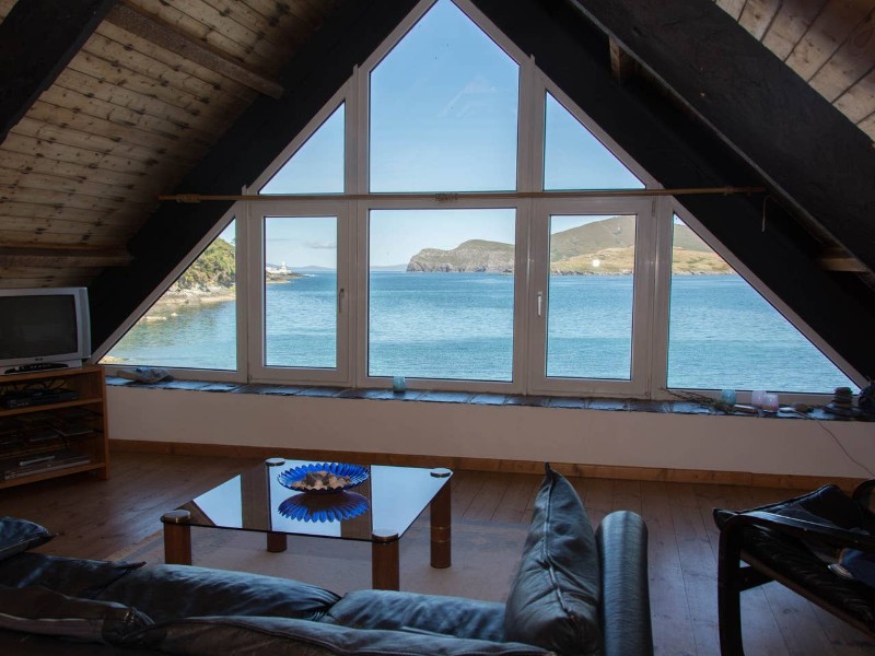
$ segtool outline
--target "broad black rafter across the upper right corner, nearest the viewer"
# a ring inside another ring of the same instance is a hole
[[[875,270],[875,149],[836,107],[710,0],[570,2]]]

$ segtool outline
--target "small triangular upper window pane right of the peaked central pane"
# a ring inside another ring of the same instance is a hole
[[[559,102],[547,94],[544,188],[642,189],[644,185]]]

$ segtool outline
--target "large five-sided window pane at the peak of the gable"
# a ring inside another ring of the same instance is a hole
[[[518,69],[440,0],[371,73],[371,190],[515,189]]]

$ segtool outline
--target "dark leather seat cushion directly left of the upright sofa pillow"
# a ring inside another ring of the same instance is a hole
[[[418,631],[435,635],[504,640],[504,605],[440,595],[357,590],[323,619],[351,629]]]

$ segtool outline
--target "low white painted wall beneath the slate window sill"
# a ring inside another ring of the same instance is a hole
[[[873,422],[115,386],[107,395],[114,440],[825,477],[875,471]]]

